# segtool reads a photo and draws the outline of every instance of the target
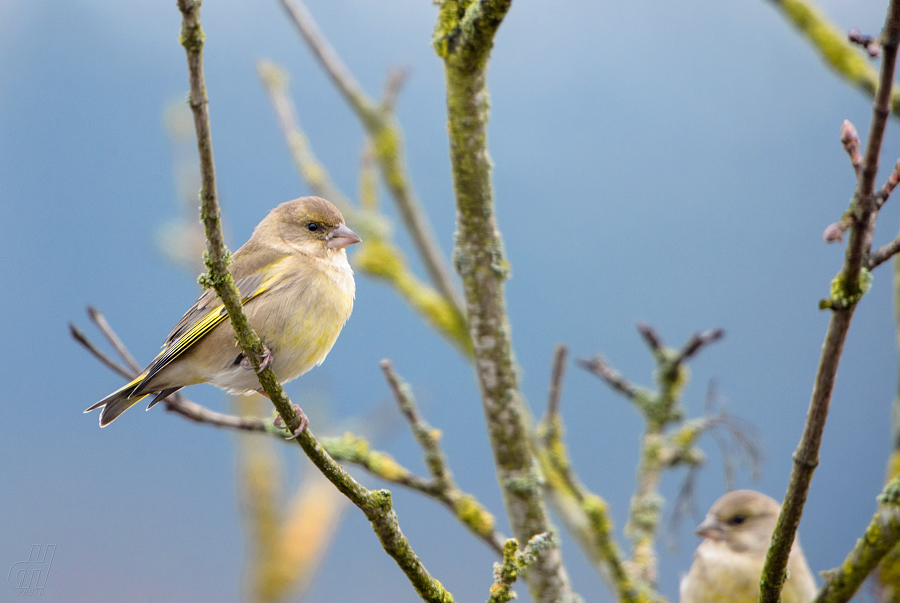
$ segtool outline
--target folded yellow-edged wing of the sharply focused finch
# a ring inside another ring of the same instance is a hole
[[[265,293],[277,280],[279,280],[277,277],[266,278],[261,273],[237,279],[235,285],[241,293],[241,303],[246,304],[251,299]],[[222,305],[222,300],[216,296],[214,290],[209,289],[201,295],[200,299],[191,306],[190,310],[175,325],[175,328],[163,344],[162,352],[147,367],[146,376],[134,389],[131,396],[143,393],[141,386],[149,383],[154,375],[227,318],[228,312],[226,312],[225,307]]]

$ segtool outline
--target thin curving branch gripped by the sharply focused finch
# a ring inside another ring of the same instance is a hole
[[[306,455],[338,490],[365,513],[366,518],[372,523],[372,528],[378,535],[382,547],[394,558],[419,596],[426,601],[449,603],[453,597],[444,590],[440,582],[431,577],[400,531],[397,516],[391,506],[390,492],[367,490],[325,452],[308,429],[298,432],[297,429],[301,424],[300,417],[278,383],[271,366],[260,370],[263,359],[262,342],[250,327],[234,281],[228,272],[228,252],[222,237],[221,218],[216,197],[208,101],[203,79],[204,34],[200,26],[200,2],[199,0],[178,0],[178,8],[183,15],[181,43],[187,54],[191,84],[190,105],[194,113],[203,182],[201,217],[206,228],[208,247],[206,264],[209,269],[205,280],[215,288],[216,294],[225,305],[241,350],[254,370],[257,371],[260,385],[278,409],[285,425],[292,432],[299,433],[297,442]]]

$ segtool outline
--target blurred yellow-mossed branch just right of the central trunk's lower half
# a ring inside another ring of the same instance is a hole
[[[547,412],[535,430],[538,460],[547,479],[550,500],[566,529],[619,601],[647,603],[656,600],[658,595],[647,585],[637,584],[626,568],[606,501],[590,492],[572,467],[559,412],[566,353],[566,346],[556,347]]]

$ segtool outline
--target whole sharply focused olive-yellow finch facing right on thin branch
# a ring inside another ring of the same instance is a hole
[[[231,274],[244,311],[281,383],[325,360],[353,309],[348,245],[360,238],[320,197],[282,203],[234,253]],[[84,412],[103,407],[104,427],[142,398],[148,409],[187,385],[212,383],[231,393],[261,391],[221,300],[207,290],[175,325],[162,352],[140,375]]]

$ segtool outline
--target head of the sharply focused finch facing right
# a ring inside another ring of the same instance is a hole
[[[314,256],[328,256],[362,239],[344,224],[344,216],[321,197],[300,197],[282,203],[272,210],[265,223],[298,251]]]

